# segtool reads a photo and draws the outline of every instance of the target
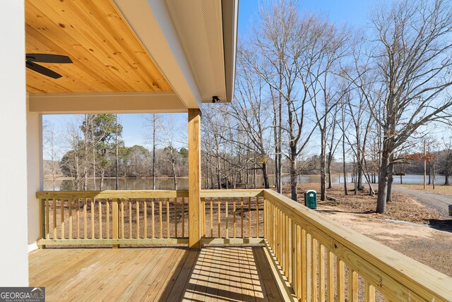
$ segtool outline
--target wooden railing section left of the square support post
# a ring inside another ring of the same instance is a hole
[[[39,245],[188,242],[188,191],[37,193]]]

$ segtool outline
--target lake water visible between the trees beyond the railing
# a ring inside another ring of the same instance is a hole
[[[350,182],[350,176],[347,178]],[[289,176],[283,177],[283,183],[289,183]],[[298,177],[299,183],[317,183],[320,182],[319,175],[303,175]],[[365,179],[363,178],[365,182]],[[422,184],[422,175],[405,175],[402,176],[403,183],[406,184]],[[258,177],[258,186],[261,186],[261,177]],[[333,183],[343,183],[343,176],[333,176]],[[428,182],[428,176],[427,176]],[[100,179],[97,179],[97,190],[100,188]],[[105,179],[104,190],[114,190],[115,179]],[[273,183],[273,177],[270,176],[270,184]],[[400,176],[394,176],[394,183],[400,183]],[[444,183],[444,175],[436,176],[436,184],[441,185]],[[157,190],[172,190],[174,188],[174,183],[171,178],[157,178],[155,181]],[[202,186],[204,182],[202,182]],[[186,190],[189,186],[189,179],[186,177],[181,177],[177,179],[177,188],[179,190]],[[153,188],[152,179],[119,179],[119,190],[151,190]],[[204,187],[203,187],[204,188]],[[88,180],[88,190],[93,190],[93,180]],[[44,181],[44,191],[53,191],[52,181]],[[57,180],[55,181],[55,191],[73,191],[73,183],[69,180]]]

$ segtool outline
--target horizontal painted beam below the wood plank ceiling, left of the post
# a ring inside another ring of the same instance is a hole
[[[185,104],[172,91],[38,93],[29,109],[41,114],[178,113]]]

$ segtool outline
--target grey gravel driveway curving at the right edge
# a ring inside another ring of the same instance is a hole
[[[405,188],[403,186],[393,186],[393,190],[396,192],[409,195],[411,198],[417,200],[418,203],[429,207],[436,212],[439,212],[444,218],[451,218],[448,215],[448,205],[452,204],[451,195],[442,195],[432,192],[424,192],[420,190],[413,190]]]

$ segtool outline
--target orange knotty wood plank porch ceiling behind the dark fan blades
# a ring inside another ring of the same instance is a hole
[[[63,75],[57,80],[27,68],[28,92],[172,90],[112,0],[26,0],[25,49],[73,61],[40,63]]]

